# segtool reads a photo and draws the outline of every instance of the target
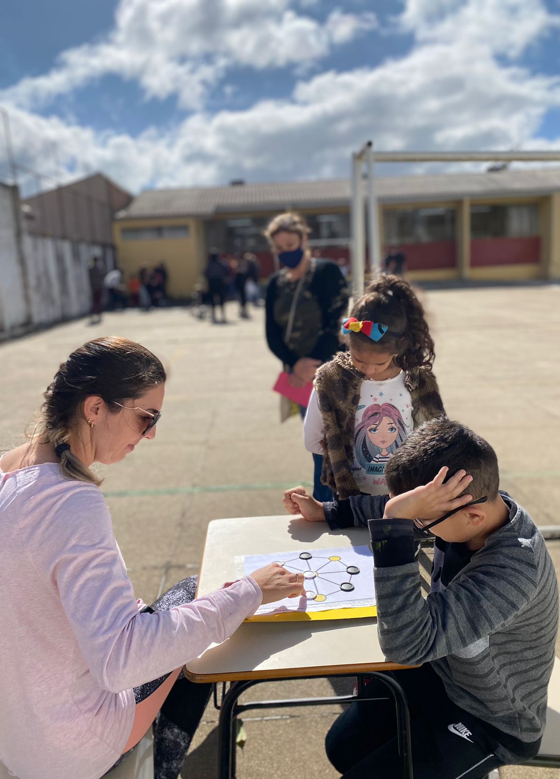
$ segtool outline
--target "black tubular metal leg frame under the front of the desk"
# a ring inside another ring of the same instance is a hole
[[[347,674],[347,676],[350,674]],[[352,674],[351,676],[355,676]],[[402,779],[413,779],[412,773],[412,747],[410,743],[410,714],[408,711],[407,696],[399,682],[392,676],[381,671],[369,671],[367,674],[358,675],[379,679],[393,693],[396,707],[397,740],[400,756],[400,775]],[[301,679],[316,679],[317,677],[296,677]],[[294,698],[289,700],[266,700],[243,703],[238,705],[238,698],[249,687],[266,679],[250,679],[246,682],[232,682],[230,689],[222,699],[220,707],[220,721],[218,724],[218,771],[219,779],[235,779],[235,721],[237,714],[243,711],[255,709],[273,709],[299,706],[324,706],[330,703],[361,703],[371,702],[372,698],[362,696],[332,696],[329,698]],[[284,679],[284,681],[288,681]],[[361,685],[359,685],[361,688]]]

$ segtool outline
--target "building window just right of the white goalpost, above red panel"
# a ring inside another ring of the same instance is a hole
[[[383,214],[387,244],[431,243],[455,240],[455,209],[387,209]]]

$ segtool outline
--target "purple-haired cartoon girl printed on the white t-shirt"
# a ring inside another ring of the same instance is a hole
[[[407,425],[396,406],[391,403],[368,406],[354,431],[357,462],[366,469],[370,463],[386,463],[407,435]]]

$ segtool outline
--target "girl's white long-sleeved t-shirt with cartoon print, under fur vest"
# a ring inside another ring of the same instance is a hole
[[[352,475],[358,489],[368,495],[386,495],[385,467],[390,456],[414,427],[412,399],[401,371],[382,382],[364,379],[354,421]],[[322,454],[322,418],[313,390],[305,417],[305,446]]]

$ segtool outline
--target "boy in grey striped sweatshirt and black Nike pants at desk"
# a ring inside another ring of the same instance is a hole
[[[558,587],[529,514],[498,491],[494,449],[435,419],[386,469],[392,495],[370,519],[379,640],[410,707],[414,779],[477,779],[537,754],[555,659]],[[424,599],[415,541],[435,536]],[[372,680],[372,697],[386,688]],[[343,779],[399,775],[392,700],[354,703],[326,738]]]

